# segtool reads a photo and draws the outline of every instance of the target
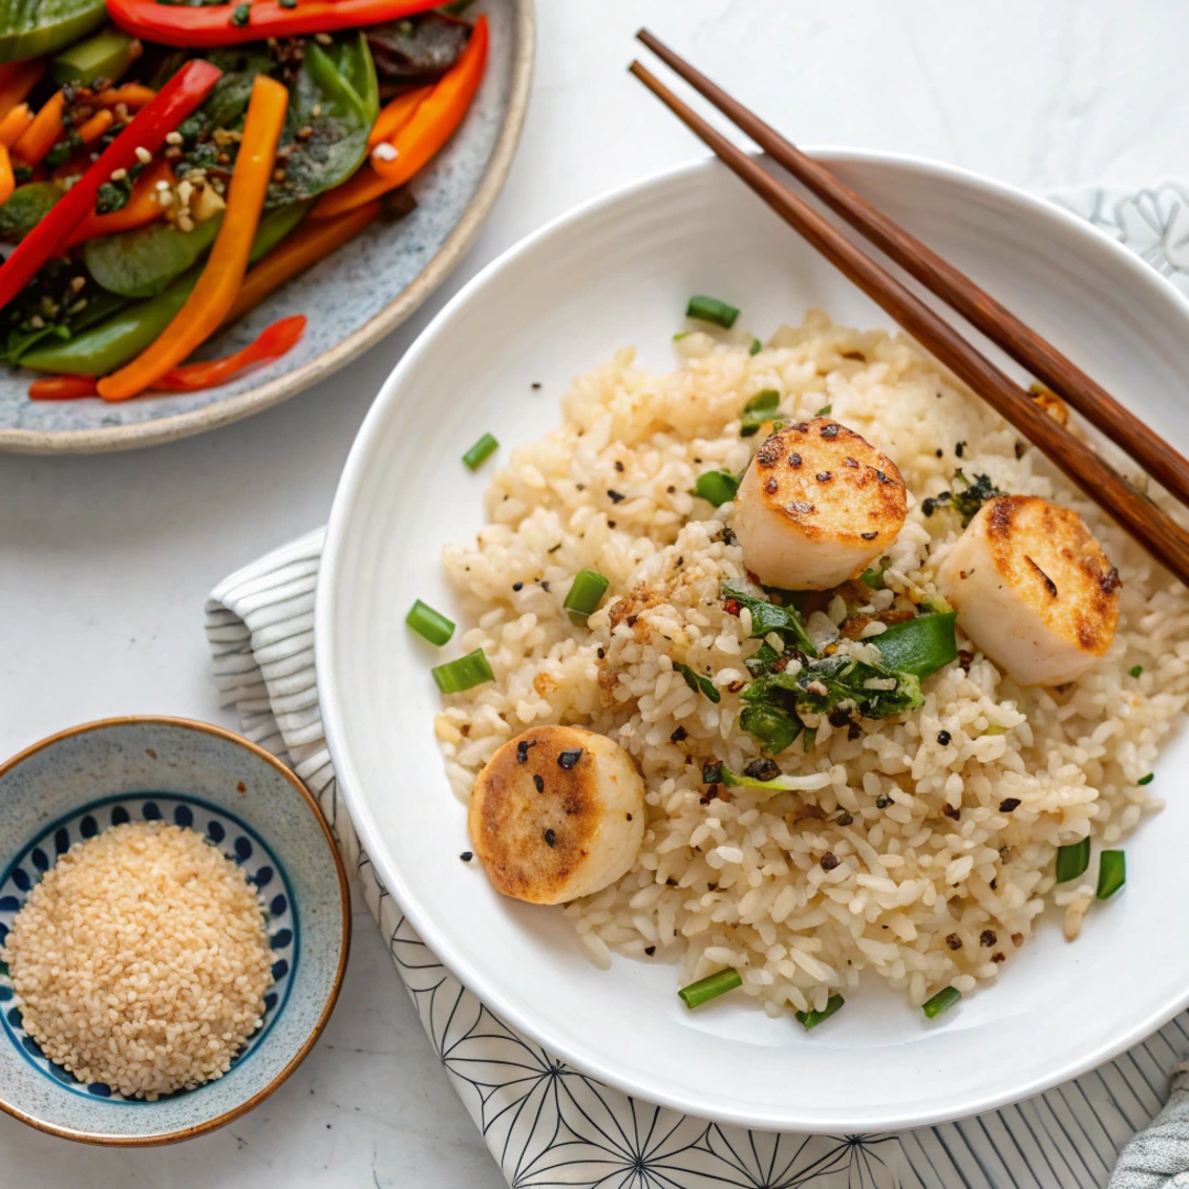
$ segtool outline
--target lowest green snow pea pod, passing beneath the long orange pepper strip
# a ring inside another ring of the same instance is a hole
[[[298,202],[265,214],[252,244],[252,263],[276,247],[297,226],[309,207],[309,202]],[[140,354],[169,326],[200,276],[202,265],[195,264],[156,297],[127,306],[65,342],[36,347],[21,357],[20,364],[33,371],[64,376],[105,376],[115,371]]]

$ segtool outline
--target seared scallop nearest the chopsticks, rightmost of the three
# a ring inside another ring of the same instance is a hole
[[[1020,685],[1081,677],[1119,622],[1119,572],[1077,512],[1036,496],[983,504],[937,585],[962,630]]]

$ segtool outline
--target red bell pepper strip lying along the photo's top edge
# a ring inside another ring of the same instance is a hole
[[[247,20],[240,21],[239,4],[158,4],[157,0],[107,0],[107,14],[119,29],[133,37],[182,49],[209,49],[262,42],[266,37],[297,37],[301,33],[333,33],[360,25],[383,25],[436,8],[442,0],[297,0],[285,8],[277,0],[256,0],[247,6]]]

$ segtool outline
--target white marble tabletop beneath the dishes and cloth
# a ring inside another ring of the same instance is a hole
[[[943,158],[1036,190],[1189,177],[1183,0],[539,0],[511,180],[445,290],[279,409],[151,452],[0,459],[0,753],[88,718],[228,722],[201,608],[224,574],[323,521],[382,379],[449,292],[574,203],[699,153],[624,73],[641,23],[803,143]],[[331,1026],[257,1112],[178,1149],[99,1151],[0,1116],[0,1182],[502,1184],[370,918]]]

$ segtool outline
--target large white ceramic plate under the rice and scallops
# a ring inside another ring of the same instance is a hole
[[[1189,445],[1189,303],[1125,249],[1055,206],[905,158],[818,153],[1083,364],[1182,448]],[[1076,945],[1056,923],[999,984],[929,1023],[866,986],[806,1034],[742,996],[687,1012],[674,969],[581,956],[558,910],[497,895],[467,849],[433,737],[433,650],[404,625],[414,598],[449,610],[439,555],[483,522],[486,473],[459,454],[484,430],[516,442],[558,422],[578,371],[624,344],[673,366],[692,292],[741,306],[756,333],[822,306],[887,319],[723,168],[680,169],[594,202],[497,260],[392,373],[347,461],[319,581],[315,644],[334,765],[363,843],[421,937],[493,1012],[642,1099],[692,1114],[872,1132],[1034,1094],[1134,1044],[1189,1002],[1189,800],[1156,773],[1164,814],[1128,844],[1124,895]],[[540,390],[531,385],[540,383]],[[489,472],[490,473],[490,472]]]

